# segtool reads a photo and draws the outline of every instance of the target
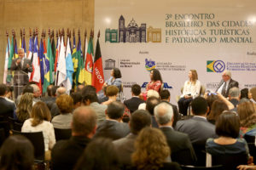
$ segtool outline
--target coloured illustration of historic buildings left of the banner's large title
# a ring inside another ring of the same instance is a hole
[[[105,42],[161,42],[161,29],[153,28],[153,26],[147,29],[145,23],[138,26],[133,18],[125,26],[125,18],[121,15],[119,29],[107,28],[105,30]]]

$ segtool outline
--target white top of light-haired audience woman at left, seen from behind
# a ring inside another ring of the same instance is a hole
[[[30,118],[27,119],[21,127],[22,133],[35,133],[41,131],[43,131],[44,135],[44,150],[47,151],[52,149],[56,143],[56,140],[54,127],[50,122],[43,121],[42,123],[38,124],[38,126],[32,127],[32,118]]]

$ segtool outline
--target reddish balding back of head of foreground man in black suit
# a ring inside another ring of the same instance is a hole
[[[96,130],[96,112],[89,106],[81,106],[73,111],[72,133],[78,136],[93,135]]]

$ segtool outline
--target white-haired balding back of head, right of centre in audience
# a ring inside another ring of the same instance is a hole
[[[173,117],[172,105],[169,105],[166,102],[156,105],[154,107],[154,116],[156,118],[156,121],[160,125],[166,125],[167,123],[172,122],[172,117]]]

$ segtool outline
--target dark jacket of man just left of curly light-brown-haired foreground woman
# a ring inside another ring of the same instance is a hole
[[[130,133],[125,138],[114,140],[113,145],[117,150],[119,161],[123,165],[131,165],[131,154],[134,152],[134,142],[137,135]]]

